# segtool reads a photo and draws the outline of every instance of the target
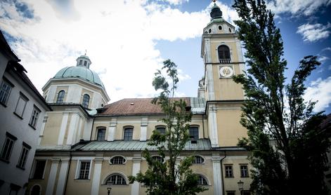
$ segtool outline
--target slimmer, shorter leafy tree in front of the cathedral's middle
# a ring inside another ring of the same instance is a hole
[[[160,105],[165,117],[161,121],[166,130],[161,134],[153,130],[148,145],[157,148],[160,159],[153,158],[150,151],[145,149],[143,157],[148,163],[145,173],[130,176],[130,182],[140,182],[147,187],[147,194],[196,194],[205,191],[204,187],[198,185],[198,177],[190,169],[193,156],[186,156],[179,160],[186,142],[189,140],[188,122],[191,121],[192,113],[188,111],[186,102],[174,97],[177,83],[179,82],[176,64],[171,60],[165,60],[162,69],[167,76],[163,76],[162,70],[157,70],[152,86],[155,90],[161,90],[158,97],[152,103]],[[168,157],[163,162],[165,157]]]

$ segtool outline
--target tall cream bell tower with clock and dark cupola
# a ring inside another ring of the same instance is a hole
[[[240,107],[244,100],[242,86],[232,79],[243,74],[245,62],[235,27],[222,18],[214,1],[211,21],[203,29],[201,58],[205,76],[200,81],[207,100],[209,137],[212,147],[236,146],[238,138],[247,136],[240,125]]]

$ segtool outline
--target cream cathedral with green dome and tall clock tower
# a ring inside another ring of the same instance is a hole
[[[216,4],[210,16],[202,34],[204,76],[197,97],[181,97],[193,112],[191,140],[181,156],[195,157],[191,168],[208,189],[201,194],[250,194],[252,167],[247,151],[237,146],[247,137],[240,125],[245,93],[232,79],[243,74],[245,62],[235,27]],[[164,130],[164,113],[152,98],[108,104],[110,95],[92,69],[90,58],[79,56],[42,88],[51,110],[41,123],[27,194],[145,194],[143,184],[129,184],[128,177],[147,170],[141,156],[146,147],[160,158],[148,140],[152,130]]]

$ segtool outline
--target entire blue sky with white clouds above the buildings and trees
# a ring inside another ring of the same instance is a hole
[[[233,1],[216,3],[228,22],[238,19]],[[152,76],[167,58],[180,69],[177,95],[194,97],[203,76],[201,34],[211,6],[207,0],[3,1],[0,29],[40,91],[86,49],[111,102],[155,96]],[[275,0],[268,8],[283,36],[287,78],[305,55],[318,55],[322,65],[306,82],[305,98],[319,101],[316,111],[330,113],[331,1]]]

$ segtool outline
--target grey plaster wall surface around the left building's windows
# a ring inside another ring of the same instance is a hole
[[[0,64],[1,72],[4,74],[0,77],[0,83],[4,81],[4,76],[8,81],[13,83],[13,88],[8,97],[6,105],[0,105],[0,147],[1,151],[4,149],[4,142],[6,140],[6,133],[17,137],[13,144],[13,149],[11,151],[11,156],[9,161],[0,161],[0,180],[4,181],[4,184],[0,187],[0,194],[8,194],[11,187],[10,184],[16,184],[20,188],[18,194],[25,193],[25,184],[28,182],[28,177],[30,174],[30,169],[32,167],[32,161],[34,159],[34,152],[37,147],[37,140],[39,137],[39,132],[44,119],[44,114],[46,113],[46,105],[39,100],[37,95],[30,90],[30,88],[23,83],[20,77],[16,76],[12,70],[4,72],[4,67],[7,65],[7,60],[4,55],[0,54]],[[18,104],[18,99],[20,93],[28,98],[25,105],[22,117],[14,114],[16,105]],[[37,119],[37,125],[35,128],[29,125],[32,116],[32,110],[36,106],[40,109],[40,113]],[[28,152],[25,167],[23,169],[18,168],[18,161],[20,159],[20,154],[22,152],[23,142],[28,144],[31,149]]]

